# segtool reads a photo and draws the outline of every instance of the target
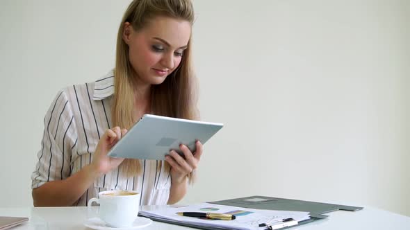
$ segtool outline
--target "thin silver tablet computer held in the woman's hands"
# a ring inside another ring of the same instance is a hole
[[[192,121],[145,114],[108,152],[110,157],[164,160],[170,150],[181,156],[182,143],[195,152],[195,141],[206,143],[222,128],[222,123]]]

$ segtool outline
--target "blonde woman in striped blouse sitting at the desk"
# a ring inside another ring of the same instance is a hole
[[[202,155],[115,159],[106,154],[143,114],[197,119],[190,67],[190,0],[135,0],[117,36],[115,69],[58,93],[44,118],[42,149],[31,176],[35,206],[85,206],[100,191],[133,190],[141,205],[174,204]],[[106,131],[105,131],[106,130]],[[105,133],[104,133],[105,131]]]

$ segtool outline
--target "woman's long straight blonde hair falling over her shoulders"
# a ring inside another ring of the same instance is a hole
[[[134,0],[124,13],[117,35],[115,60],[115,93],[112,108],[113,126],[129,129],[138,118],[133,116],[135,96],[133,71],[129,63],[129,47],[122,39],[124,23],[128,21],[134,30],[147,26],[155,17],[165,16],[183,19],[193,24],[194,11],[190,0]],[[183,52],[179,67],[160,85],[151,85],[151,112],[161,116],[197,119],[197,84],[191,64],[191,39]],[[141,173],[140,160],[125,159],[120,165],[127,177]],[[165,161],[165,169],[170,165]],[[192,183],[194,175],[188,175]]]

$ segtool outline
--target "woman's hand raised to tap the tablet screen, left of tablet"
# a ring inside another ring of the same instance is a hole
[[[107,130],[104,135],[101,136],[90,165],[99,175],[110,172],[120,166],[120,163],[124,161],[124,158],[109,157],[107,156],[107,153],[122,138],[122,136],[126,134],[126,132],[128,132],[128,130],[121,129],[117,126]]]

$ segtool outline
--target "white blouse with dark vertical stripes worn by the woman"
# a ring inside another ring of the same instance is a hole
[[[58,92],[46,116],[38,163],[31,175],[31,188],[62,180],[92,161],[97,143],[112,127],[111,105],[114,93],[113,71],[84,85]],[[119,168],[96,179],[74,204],[86,206],[100,191],[129,190],[141,193],[141,205],[167,204],[170,171],[164,161],[140,160],[142,174],[126,178]]]

